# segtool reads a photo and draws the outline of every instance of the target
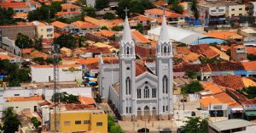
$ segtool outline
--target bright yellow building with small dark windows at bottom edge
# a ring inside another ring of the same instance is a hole
[[[95,105],[64,104],[61,109],[61,132],[87,132],[108,133],[108,114]],[[54,111],[50,110],[50,130],[55,130]],[[79,116],[79,117],[78,117]]]

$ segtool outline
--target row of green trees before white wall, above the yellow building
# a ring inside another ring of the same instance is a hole
[[[56,97],[55,97],[55,95],[56,95]],[[79,96],[75,96],[73,94],[67,94],[66,91],[61,92],[61,93],[56,93],[51,98],[52,102],[59,101],[59,99],[62,103],[80,103]]]

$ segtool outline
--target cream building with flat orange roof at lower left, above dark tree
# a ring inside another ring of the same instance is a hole
[[[24,109],[29,109],[31,112],[37,112],[38,103],[42,102],[44,102],[42,96],[8,97],[6,99],[5,108],[14,108],[17,114],[20,114]]]

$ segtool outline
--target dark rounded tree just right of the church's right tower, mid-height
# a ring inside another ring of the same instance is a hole
[[[202,91],[203,87],[198,80],[193,80],[188,85],[183,86],[181,90],[183,91],[183,93],[191,94]]]

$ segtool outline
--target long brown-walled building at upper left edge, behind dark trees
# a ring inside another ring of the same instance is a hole
[[[28,36],[29,38],[36,37],[35,25],[0,25],[2,36],[8,37],[11,40],[16,40],[19,33]]]

